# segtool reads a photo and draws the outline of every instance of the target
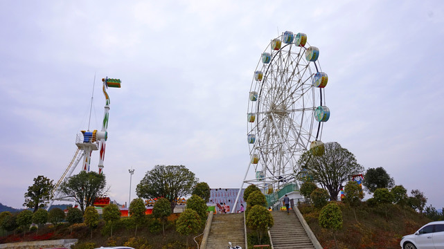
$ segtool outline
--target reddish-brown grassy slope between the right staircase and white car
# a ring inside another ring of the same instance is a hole
[[[356,208],[356,221],[352,208],[341,202],[338,205],[342,211],[343,225],[337,230],[336,238],[338,247],[344,249],[399,249],[402,236],[414,233],[431,221],[411,208],[402,208],[399,205],[369,207],[364,202]],[[332,231],[319,226],[320,210],[306,204],[299,205],[299,210],[323,248],[336,248]]]

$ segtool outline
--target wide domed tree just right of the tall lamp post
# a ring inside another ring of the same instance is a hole
[[[183,165],[156,165],[137,185],[136,193],[139,198],[166,198],[174,212],[177,199],[191,194],[197,181],[195,174]]]

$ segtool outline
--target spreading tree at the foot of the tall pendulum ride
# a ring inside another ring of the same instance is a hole
[[[80,206],[82,213],[85,208],[94,204],[97,197],[103,196],[107,190],[104,174],[82,171],[76,176],[71,176],[68,181],[60,186],[61,192],[73,197]]]

